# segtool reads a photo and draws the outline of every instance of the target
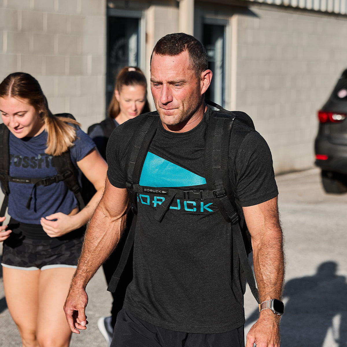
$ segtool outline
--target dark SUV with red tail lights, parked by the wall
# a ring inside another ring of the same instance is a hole
[[[328,101],[318,111],[319,128],[314,142],[315,164],[322,169],[327,193],[347,192],[347,69]]]

